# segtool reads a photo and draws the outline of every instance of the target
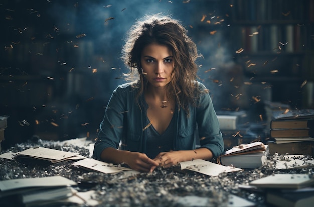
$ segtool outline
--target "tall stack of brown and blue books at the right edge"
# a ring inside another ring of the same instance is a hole
[[[304,154],[305,144],[309,146],[306,154],[312,155],[313,132],[313,109],[273,112],[269,130],[271,139],[267,143],[270,145],[270,153]],[[288,148],[294,149],[294,151],[288,150]],[[300,150],[295,151],[298,148]]]

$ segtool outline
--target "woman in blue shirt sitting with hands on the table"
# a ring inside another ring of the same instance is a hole
[[[152,172],[223,152],[211,98],[196,80],[196,45],[186,33],[177,20],[161,15],[146,16],[129,30],[122,59],[130,68],[128,78],[137,80],[113,91],[95,159]]]

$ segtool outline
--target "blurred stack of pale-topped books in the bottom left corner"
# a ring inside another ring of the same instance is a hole
[[[1,206],[94,206],[94,191],[78,192],[77,183],[62,177],[21,178],[0,181]]]

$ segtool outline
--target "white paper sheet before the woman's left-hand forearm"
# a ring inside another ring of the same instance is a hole
[[[102,162],[96,159],[86,158],[80,161],[72,163],[72,165],[85,167],[94,171],[102,172],[102,173],[117,173],[125,170],[132,170],[126,167],[116,167],[113,164],[109,164],[107,162]]]

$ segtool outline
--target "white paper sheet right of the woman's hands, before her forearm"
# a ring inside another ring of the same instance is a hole
[[[209,176],[218,176],[220,173],[224,172],[234,172],[240,171],[242,169],[223,166],[215,164],[213,162],[205,161],[202,159],[195,159],[193,161],[180,162],[181,169],[188,169],[191,171],[199,172]]]

